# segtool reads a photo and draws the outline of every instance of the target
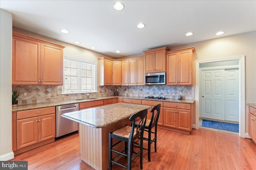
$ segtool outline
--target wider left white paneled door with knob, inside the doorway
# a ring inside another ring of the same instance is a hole
[[[202,78],[202,117],[225,118],[225,70],[204,70]]]

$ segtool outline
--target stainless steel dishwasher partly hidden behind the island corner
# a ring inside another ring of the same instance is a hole
[[[61,117],[63,113],[78,111],[79,104],[56,106],[56,138],[78,131],[79,123]]]

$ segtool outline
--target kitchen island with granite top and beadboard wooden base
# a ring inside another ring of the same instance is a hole
[[[149,108],[151,106],[117,103],[64,113],[62,117],[79,123],[82,160],[96,170],[106,170],[109,168],[108,133],[124,125],[130,125],[131,115]]]

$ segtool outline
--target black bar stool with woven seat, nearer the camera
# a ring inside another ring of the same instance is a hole
[[[118,164],[130,170],[132,166],[132,160],[134,160],[136,156],[140,156],[140,169],[142,169],[143,140],[141,140],[140,142],[140,151],[138,153],[133,151],[133,142],[139,137],[143,137],[143,132],[146,124],[146,115],[147,115],[147,109],[139,111],[138,113],[133,114],[129,118],[129,120],[132,121],[132,126],[125,125],[115,130],[114,132],[109,133],[109,169],[110,170],[112,170],[112,163]],[[135,125],[135,121],[138,122],[137,125]],[[113,138],[119,140],[114,145],[112,144]],[[124,141],[124,150],[121,152],[118,150],[114,150],[113,147],[122,141]],[[127,153],[127,150],[128,150],[128,153]],[[112,158],[112,152],[116,152],[118,153],[118,155]],[[135,154],[134,157],[132,157],[133,153]],[[123,164],[120,164],[114,161],[119,155],[124,155],[128,157],[128,166],[124,166]]]

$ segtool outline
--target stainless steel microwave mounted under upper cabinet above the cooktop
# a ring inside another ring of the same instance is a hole
[[[145,73],[145,85],[166,84],[166,73]]]

